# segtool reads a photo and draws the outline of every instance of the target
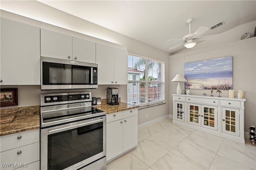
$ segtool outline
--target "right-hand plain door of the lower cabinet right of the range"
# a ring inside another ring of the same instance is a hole
[[[124,119],[123,125],[123,152],[138,144],[138,116]]]

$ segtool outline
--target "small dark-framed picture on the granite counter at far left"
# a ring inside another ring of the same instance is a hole
[[[18,88],[1,89],[0,106],[16,106],[18,105]]]

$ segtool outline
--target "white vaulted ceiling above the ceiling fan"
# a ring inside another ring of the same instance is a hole
[[[241,24],[256,20],[256,0],[252,1],[98,1],[98,0],[38,0],[84,20],[147,43],[168,53],[189,33],[186,20],[193,18],[191,33],[200,26],[224,25],[203,35],[220,34]]]

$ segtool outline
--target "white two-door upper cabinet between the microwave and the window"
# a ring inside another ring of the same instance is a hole
[[[127,85],[127,51],[96,43],[96,64],[99,85]]]

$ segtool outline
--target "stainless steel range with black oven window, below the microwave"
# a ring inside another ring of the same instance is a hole
[[[91,92],[41,94],[41,170],[106,170],[106,113]]]

